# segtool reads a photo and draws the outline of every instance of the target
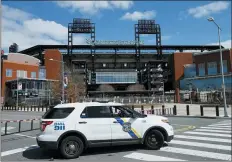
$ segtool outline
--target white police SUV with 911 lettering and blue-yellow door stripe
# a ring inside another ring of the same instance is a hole
[[[120,103],[84,102],[48,110],[36,140],[41,148],[58,149],[71,159],[89,147],[144,144],[156,150],[173,137],[166,117],[143,115]]]

